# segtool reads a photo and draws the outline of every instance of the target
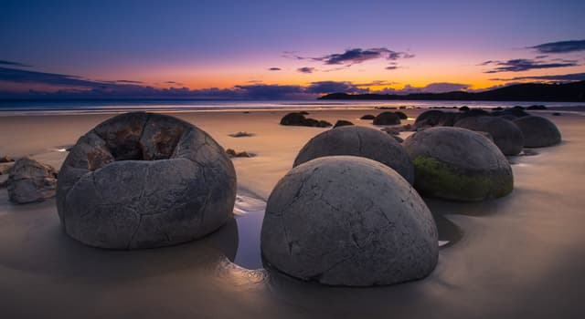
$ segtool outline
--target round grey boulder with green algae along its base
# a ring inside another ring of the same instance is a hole
[[[423,195],[482,201],[514,188],[510,163],[495,144],[470,129],[432,128],[402,143],[414,164],[414,187]]]

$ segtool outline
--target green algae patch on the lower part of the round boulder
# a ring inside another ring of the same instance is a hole
[[[482,201],[510,193],[514,187],[511,171],[460,171],[428,156],[413,160],[414,186],[422,194],[455,201]]]

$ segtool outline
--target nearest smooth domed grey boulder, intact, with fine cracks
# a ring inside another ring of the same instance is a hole
[[[372,286],[427,276],[437,228],[416,190],[375,160],[332,156],[290,170],[268,200],[262,260],[303,281]]]

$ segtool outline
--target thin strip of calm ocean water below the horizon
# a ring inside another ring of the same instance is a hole
[[[0,100],[0,116],[120,113],[129,111],[225,111],[260,109],[335,109],[335,108],[497,108],[577,107],[582,102],[522,101],[436,101],[436,100],[176,100],[176,99],[112,99],[112,100]]]

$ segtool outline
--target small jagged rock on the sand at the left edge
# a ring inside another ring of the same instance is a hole
[[[8,198],[17,204],[45,201],[55,196],[57,170],[37,160],[22,158],[8,175]]]

